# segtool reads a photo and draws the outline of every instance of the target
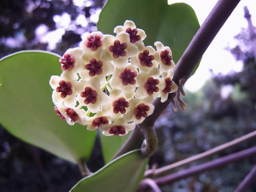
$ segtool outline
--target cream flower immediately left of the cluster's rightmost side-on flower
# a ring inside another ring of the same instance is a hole
[[[161,86],[159,76],[159,69],[156,67],[148,73],[140,72],[137,77],[139,87],[135,92],[135,97],[141,99],[152,95],[155,98]]]

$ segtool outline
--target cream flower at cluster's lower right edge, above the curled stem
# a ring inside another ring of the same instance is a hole
[[[148,96],[144,99],[133,98],[129,102],[130,111],[124,116],[128,122],[133,121],[135,124],[140,124],[147,116],[154,112],[154,105],[151,104],[153,96]]]

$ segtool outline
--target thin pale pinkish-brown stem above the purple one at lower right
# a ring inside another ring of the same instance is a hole
[[[194,162],[196,160],[199,160],[199,159],[205,158],[207,156],[216,154],[216,153],[218,153],[222,150],[225,150],[225,149],[230,148],[232,146],[236,146],[237,144],[240,144],[241,142],[249,140],[253,137],[256,137],[256,130],[253,131],[253,132],[250,132],[250,133],[248,133],[248,134],[246,134],[246,135],[244,135],[240,138],[236,138],[235,140],[232,140],[230,142],[227,142],[225,144],[222,144],[220,146],[217,146],[215,148],[212,148],[212,149],[210,149],[208,151],[205,151],[205,152],[202,152],[200,154],[194,155],[192,157],[186,158],[184,160],[175,162],[173,164],[164,166],[162,168],[147,170],[145,172],[145,176],[146,177],[148,177],[148,176],[159,176],[159,175],[165,174],[165,173],[169,172],[170,170],[172,170],[174,168],[177,168],[179,166],[183,166],[183,165],[189,164],[191,162]]]

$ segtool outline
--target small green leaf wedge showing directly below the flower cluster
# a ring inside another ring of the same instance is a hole
[[[116,154],[116,152],[128,139],[130,134],[131,132],[125,136],[105,136],[100,133],[100,142],[105,163],[110,161],[114,154]]]

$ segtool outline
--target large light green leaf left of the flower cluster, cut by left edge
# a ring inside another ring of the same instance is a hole
[[[95,132],[70,126],[54,112],[52,75],[60,75],[60,56],[18,52],[0,60],[0,123],[21,140],[66,160],[88,160]]]

